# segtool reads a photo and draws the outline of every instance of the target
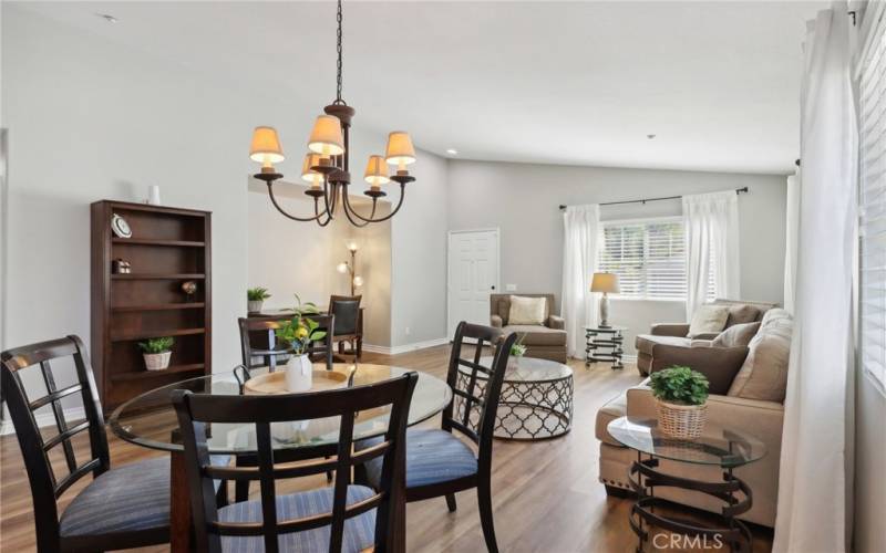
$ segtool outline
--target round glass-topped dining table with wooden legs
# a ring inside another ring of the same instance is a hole
[[[394,378],[408,372],[415,372],[419,380],[410,404],[410,426],[422,422],[442,411],[452,400],[452,389],[435,376],[408,367],[374,364],[334,364],[333,371],[351,374],[353,379],[342,382],[342,386],[368,385]],[[249,371],[253,377],[267,374],[267,368]],[[121,439],[136,446],[169,453],[169,545],[173,552],[192,551],[193,519],[190,498],[185,471],[184,447],[178,438],[178,420],[172,405],[172,392],[189,389],[196,394],[241,395],[243,377],[234,372],[215,373],[163,386],[137,396],[121,405],[110,417],[111,430]],[[328,386],[323,389],[329,389]],[[308,392],[310,394],[311,392]],[[383,435],[388,429],[387,410],[361,414],[354,424],[354,440]],[[339,437],[339,418],[298,420],[275,425],[271,434],[275,450],[336,444]],[[255,425],[214,424],[207,440],[212,456],[255,456]],[[395,543],[399,551],[405,550],[405,504],[398,505],[401,514]]]

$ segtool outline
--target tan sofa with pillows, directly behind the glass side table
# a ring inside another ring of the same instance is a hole
[[[751,326],[750,324],[748,326]],[[779,490],[784,395],[787,385],[787,362],[793,321],[782,309],[770,309],[746,346],[719,347],[697,341],[689,345],[669,345],[656,351],[652,371],[670,365],[689,365],[708,376],[708,424],[745,431],[766,446],[766,455],[735,469],[753,492],[753,505],[741,519],[774,526]],[[725,378],[723,378],[725,376]],[[604,405],[597,411],[596,436],[600,441],[599,480],[608,494],[631,493],[628,469],[637,452],[621,446],[607,431],[607,425],[621,416],[656,418],[656,399],[647,378]],[[719,481],[722,469],[686,462],[661,460],[666,473],[694,480]],[[657,495],[711,512],[720,512],[722,502],[712,498],[672,488],[656,490]]]

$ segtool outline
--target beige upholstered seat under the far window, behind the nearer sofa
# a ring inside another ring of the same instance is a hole
[[[735,324],[761,321],[766,311],[777,305],[775,303],[741,300],[714,300],[711,304],[729,306],[729,317],[724,330]],[[698,334],[691,338],[688,334],[689,323],[653,324],[649,334],[638,334],[633,345],[637,348],[637,369],[640,374],[643,376],[649,375],[657,346],[688,346],[692,341],[713,340],[719,333]]]

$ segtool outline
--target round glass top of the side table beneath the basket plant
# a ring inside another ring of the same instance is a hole
[[[710,421],[696,439],[668,436],[657,425],[653,418],[619,417],[609,422],[607,430],[624,446],[673,461],[734,468],[766,455],[766,446],[756,438]]]

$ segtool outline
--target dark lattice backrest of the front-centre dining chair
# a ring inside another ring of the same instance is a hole
[[[375,546],[390,550],[393,501],[403,500],[405,481],[405,426],[418,375],[409,373],[382,383],[312,394],[268,396],[210,396],[188,390],[173,393],[185,445],[186,469],[199,551],[220,551],[220,536],[261,536],[265,551],[278,550],[278,540],[290,532],[330,526],[331,552],[342,547],[344,522],[370,509],[378,509]],[[354,452],[354,420],[363,410],[390,408],[388,431],[381,444]],[[305,448],[301,459],[275,462],[271,424],[338,417],[339,439],[334,445]],[[256,467],[213,467],[206,448],[206,426],[213,422],[251,422],[256,426]],[[330,456],[330,459],[319,459]],[[379,491],[348,505],[352,469],[368,459],[383,456]],[[332,509],[327,513],[280,520],[276,480],[336,471]],[[219,522],[212,482],[219,477],[258,480],[261,522]]]

